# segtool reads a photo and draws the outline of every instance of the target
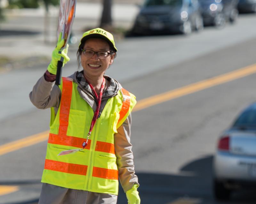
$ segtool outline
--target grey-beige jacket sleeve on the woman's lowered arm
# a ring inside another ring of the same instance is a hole
[[[114,135],[118,176],[124,192],[130,190],[133,184],[139,184],[134,171],[132,144],[130,142],[131,122],[130,114]]]

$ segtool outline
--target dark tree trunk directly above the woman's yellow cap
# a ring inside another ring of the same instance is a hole
[[[112,18],[111,18],[111,6],[112,0],[102,0],[103,11],[100,20],[100,27],[111,27]]]

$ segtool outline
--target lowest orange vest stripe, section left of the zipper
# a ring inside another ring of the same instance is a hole
[[[60,171],[64,173],[72,173],[79,175],[86,175],[87,166],[81,164],[70,164],[65,162],[53,161],[45,159],[44,169],[52,171]]]

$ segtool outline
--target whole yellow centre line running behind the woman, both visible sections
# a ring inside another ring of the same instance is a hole
[[[134,111],[139,111],[145,108],[148,108],[150,106],[154,106],[159,103],[163,103],[168,100],[172,100],[174,98],[179,98],[181,96],[185,96],[197,91],[201,91],[207,88],[210,88],[212,86],[216,86],[219,84],[223,84],[238,78],[246,77],[248,75],[256,73],[256,64],[253,64],[251,66],[238,69],[236,71],[232,71],[217,77],[213,77],[210,79],[206,79],[194,84],[190,84],[187,86],[183,86],[178,89],[174,89],[172,91],[167,91],[162,94],[158,94],[149,98],[142,99],[138,101],[137,105],[134,107]],[[31,135],[29,137],[25,137],[20,140],[16,140],[4,145],[0,146],[0,156],[7,154],[8,152],[12,152],[24,147],[31,146],[33,144],[43,142],[47,140],[49,131],[45,131],[36,135]]]

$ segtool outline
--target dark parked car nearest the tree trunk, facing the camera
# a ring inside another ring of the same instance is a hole
[[[146,0],[132,33],[191,33],[204,27],[198,0]]]

